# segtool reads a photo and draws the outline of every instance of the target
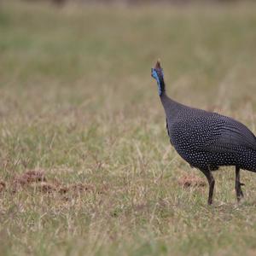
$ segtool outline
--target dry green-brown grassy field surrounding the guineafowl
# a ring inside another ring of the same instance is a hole
[[[1,255],[255,255],[256,175],[205,182],[170,146],[169,96],[256,132],[256,5],[0,3]]]

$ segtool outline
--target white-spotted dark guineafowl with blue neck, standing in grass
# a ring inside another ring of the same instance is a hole
[[[244,196],[240,170],[256,172],[256,137],[246,125],[236,119],[190,108],[172,100],[166,94],[163,69],[158,60],[151,68],[157,82],[160,102],[166,113],[166,130],[170,143],[183,160],[199,169],[209,184],[208,205],[212,205],[215,180],[212,172],[220,166],[236,167],[236,199]]]

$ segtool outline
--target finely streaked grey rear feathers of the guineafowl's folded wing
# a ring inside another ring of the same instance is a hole
[[[212,152],[236,152],[237,147],[256,150],[256,138],[253,132],[235,119],[218,115],[218,137],[209,140],[206,150]]]

